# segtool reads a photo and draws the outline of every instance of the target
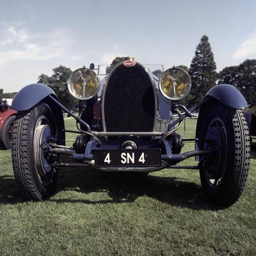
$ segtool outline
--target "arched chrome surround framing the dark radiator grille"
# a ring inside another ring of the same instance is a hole
[[[150,78],[153,90],[154,90],[154,96],[155,96],[155,120],[154,120],[154,127],[153,127],[153,131],[156,130],[156,122],[158,122],[158,117],[157,117],[157,112],[158,112],[158,92],[157,92],[157,84],[156,82],[152,79],[152,76],[150,75],[150,72],[148,71],[147,68],[145,68],[141,63],[138,63],[137,61],[136,65],[140,65],[144,71],[146,71],[148,77]],[[114,72],[114,70],[119,67],[119,65],[123,65],[123,61],[121,61],[120,63],[118,63],[117,65],[115,65],[115,67],[112,69],[112,71],[109,73],[108,77],[105,79],[104,84],[103,84],[103,88],[102,88],[102,93],[101,93],[101,101],[102,101],[102,106],[104,106],[104,99],[105,99],[105,91],[106,91],[106,86],[108,85],[110,76],[112,75],[112,73]],[[104,113],[104,108],[102,108],[101,110],[101,114],[102,114],[102,126],[103,126],[103,131],[106,131],[106,126],[105,126],[105,113]]]

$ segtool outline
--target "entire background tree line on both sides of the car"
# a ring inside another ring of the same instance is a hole
[[[123,60],[124,57],[115,57],[110,67],[106,68],[106,73],[109,73],[114,65]],[[216,84],[234,85],[243,94],[249,106],[256,104],[256,60],[245,60],[240,65],[226,67],[222,71],[217,72],[213,51],[209,43],[209,38],[206,35],[201,37],[190,67],[186,67],[185,65],[179,65],[177,67],[183,68],[191,76],[191,92],[181,100],[181,104],[184,104],[188,108],[199,104],[208,90]],[[67,80],[71,73],[70,68],[60,65],[53,69],[52,76],[42,74],[38,77],[38,82],[50,86],[59,97],[61,103],[68,108],[72,108],[73,105],[77,104],[77,100],[67,90]],[[159,77],[162,71],[157,69],[152,73]],[[1,98],[9,98],[6,97],[2,89],[0,89]]]

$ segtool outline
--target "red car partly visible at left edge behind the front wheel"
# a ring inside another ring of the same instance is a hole
[[[0,101],[0,147],[11,148],[11,133],[16,117],[16,111],[11,109],[5,101]]]

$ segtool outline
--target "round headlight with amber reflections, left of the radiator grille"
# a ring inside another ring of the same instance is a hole
[[[79,68],[68,79],[69,92],[79,100],[89,100],[100,89],[100,79],[89,68]]]

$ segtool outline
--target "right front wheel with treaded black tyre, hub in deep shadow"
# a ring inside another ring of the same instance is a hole
[[[242,110],[220,102],[202,106],[197,121],[200,179],[204,193],[216,205],[228,207],[240,198],[250,164],[250,133]]]

